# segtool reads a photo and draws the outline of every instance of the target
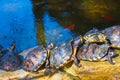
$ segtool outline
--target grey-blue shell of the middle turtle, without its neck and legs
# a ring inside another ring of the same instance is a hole
[[[72,46],[67,41],[51,50],[50,63],[56,68],[63,67],[71,58]]]

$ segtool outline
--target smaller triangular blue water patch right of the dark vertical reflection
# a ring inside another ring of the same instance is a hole
[[[73,37],[74,34],[70,30],[63,28],[56,18],[49,15],[49,12],[44,12],[42,20],[47,44],[50,41],[53,41],[55,44],[60,44]]]

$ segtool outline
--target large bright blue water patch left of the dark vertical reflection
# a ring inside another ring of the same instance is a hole
[[[12,42],[18,52],[37,44],[29,0],[0,0],[0,45],[8,48]]]

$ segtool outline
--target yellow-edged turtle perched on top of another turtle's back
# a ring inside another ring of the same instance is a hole
[[[98,29],[94,28],[88,31],[82,38],[82,41],[89,46],[90,43],[105,43],[110,44],[107,36],[100,32]]]

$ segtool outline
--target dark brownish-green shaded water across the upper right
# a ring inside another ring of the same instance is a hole
[[[119,0],[34,0],[33,10],[36,20],[42,18],[44,11],[49,11],[62,26],[75,24],[72,32],[79,35],[93,27],[119,25],[119,3]]]

